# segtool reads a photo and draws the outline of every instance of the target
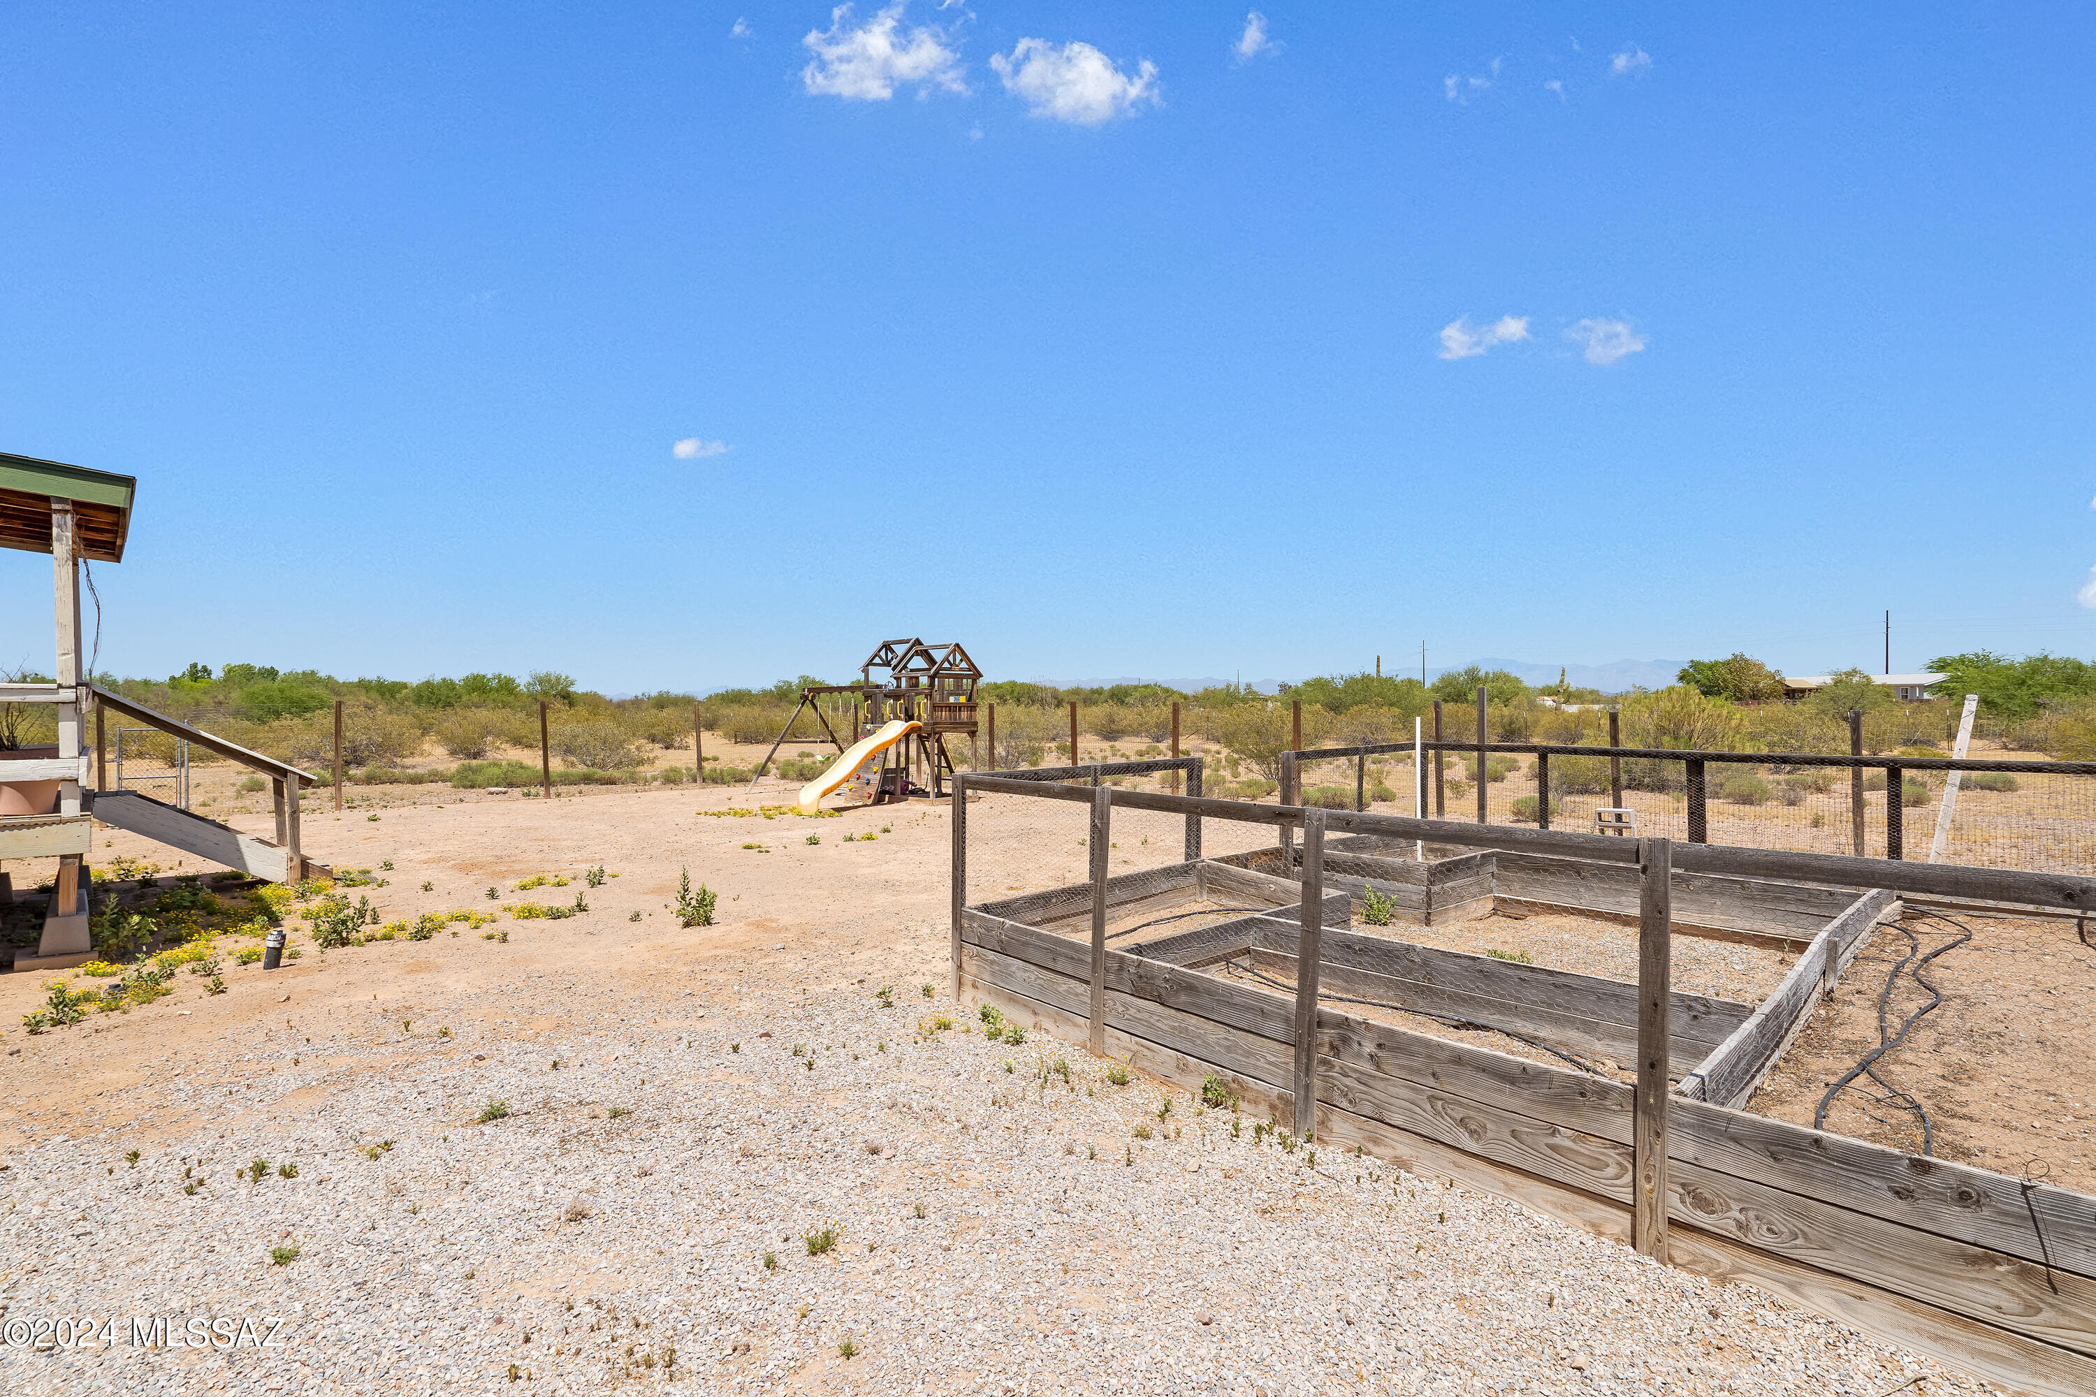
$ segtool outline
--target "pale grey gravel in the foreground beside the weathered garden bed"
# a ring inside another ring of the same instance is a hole
[[[547,970],[407,1022],[270,1018],[134,1087],[170,1100],[153,1133],[27,1127],[6,1322],[115,1315],[119,1343],[0,1349],[0,1384],[1876,1397],[1935,1372],[1513,1204],[1253,1144],[1038,1030],[989,1043],[922,997],[931,926],[882,938],[895,1007],[857,966],[788,989],[851,959],[822,943],[803,976]],[[545,1026],[555,1005],[595,1028]],[[490,1100],[507,1118],[476,1123]],[[287,1324],[149,1351],[132,1315]]]

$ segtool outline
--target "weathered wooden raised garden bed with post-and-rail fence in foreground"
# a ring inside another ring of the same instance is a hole
[[[1090,882],[970,907],[973,792],[1088,802]],[[1188,859],[1109,878],[1102,855],[1113,806],[1300,834],[1293,875]],[[1610,986],[1599,1001],[1593,986],[1570,984],[1589,976],[1497,961],[1480,970],[1471,961],[1482,957],[1346,930],[1348,890],[1325,888],[1327,831],[1603,867],[1637,892],[1635,997],[1631,986],[1599,980]],[[1262,880],[1256,886],[1274,909],[1126,951],[1107,947],[1109,913],[1184,901],[1241,878]],[[1698,880],[1704,890],[1696,896],[1723,899],[1719,880],[1735,880],[1746,890],[1803,888],[1784,896],[1809,903],[1826,894],[1821,905],[1838,905],[1800,938],[1805,951],[1784,984],[1748,1010],[1671,991],[1671,901]],[[1186,1087],[1214,1072],[1253,1110],[1276,1112],[1318,1144],[1362,1146],[1671,1265],[1752,1282],[1989,1382],[2062,1397],[2096,1391],[2096,1198],[1735,1108],[1809,1018],[1815,991],[1832,984],[1903,894],[2096,909],[2096,880],[2065,873],[1616,840],[964,773],[954,800],[952,972],[956,997],[998,1003]],[[1090,945],[1048,930],[1086,913]],[[1293,995],[1197,968],[1237,949],[1291,970]],[[1559,1039],[1587,1033],[1597,1049],[1633,1049],[1624,1056],[1637,1066],[1637,1085],[1318,1001],[1320,986],[1354,993],[1346,984],[1398,1003],[1429,986],[1482,1024],[1528,1022],[1538,1037]],[[1566,999],[1568,989],[1582,993]],[[1673,1072],[1683,1072],[1679,1089],[1668,1089]]]

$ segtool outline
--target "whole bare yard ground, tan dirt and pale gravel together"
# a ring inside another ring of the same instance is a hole
[[[0,976],[0,1336],[289,1324],[272,1349],[0,1345],[0,1389],[1979,1391],[1511,1204],[1253,1144],[1038,1026],[991,1037],[945,993],[949,808],[763,817],[786,800],[375,792],[304,827],[319,859],[392,863],[358,890],[388,919],[618,878],[507,940],[226,957],[222,995],[178,976],[36,1037],[42,976]],[[1082,875],[1084,806],[1023,804],[970,806],[975,896]],[[1115,871],[1180,838],[1117,821]],[[677,924],[681,869],[717,926]]]

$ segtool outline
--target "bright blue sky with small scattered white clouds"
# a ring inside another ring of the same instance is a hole
[[[1260,10],[8,6],[0,450],[119,672],[2096,653],[2096,13]]]

